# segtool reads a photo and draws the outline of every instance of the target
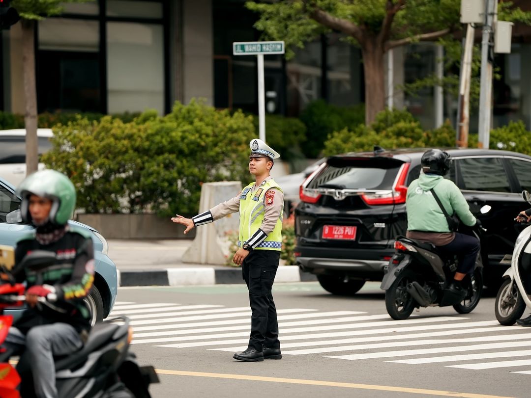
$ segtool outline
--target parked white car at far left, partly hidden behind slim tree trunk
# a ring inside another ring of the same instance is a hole
[[[53,136],[52,129],[37,129],[39,140],[39,155],[52,147],[49,138]],[[0,130],[0,178],[18,187],[26,176],[26,130]],[[39,163],[39,170],[44,169]]]

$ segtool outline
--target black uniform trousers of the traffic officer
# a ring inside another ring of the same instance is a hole
[[[243,260],[243,279],[249,288],[251,337],[249,348],[280,348],[277,308],[271,288],[277,274],[280,251],[253,250]]]

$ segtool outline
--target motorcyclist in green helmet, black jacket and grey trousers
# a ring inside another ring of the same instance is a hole
[[[68,225],[75,209],[75,189],[68,178],[53,170],[29,175],[17,192],[21,213],[36,229],[16,244],[13,275],[27,284],[28,305],[10,328],[5,346],[18,355],[24,350],[39,398],[56,398],[54,356],[83,347],[90,331],[90,313],[83,303],[94,280],[94,250],[87,231]],[[56,262],[37,271],[19,266],[36,250],[56,254]],[[39,302],[39,297],[45,297]],[[23,382],[24,383],[24,382]]]

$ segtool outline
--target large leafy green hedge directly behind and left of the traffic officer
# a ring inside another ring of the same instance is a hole
[[[71,178],[87,213],[195,214],[203,182],[249,181],[252,118],[204,103],[177,102],[159,117],[147,111],[131,122],[78,117],[54,128],[42,156]]]

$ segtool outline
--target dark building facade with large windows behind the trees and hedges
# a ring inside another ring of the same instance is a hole
[[[524,1],[516,1],[530,8]],[[218,108],[258,110],[256,57],[234,57],[234,41],[260,40],[256,14],[244,0],[97,0],[66,4],[36,29],[38,111],[169,112],[176,101],[202,98]],[[24,113],[20,24],[2,31],[0,109]],[[324,99],[348,106],[364,100],[360,51],[331,33],[295,57],[265,57],[266,109],[298,116]],[[457,99],[429,87],[405,94],[405,83],[435,73],[431,43],[393,50],[387,63],[389,105],[407,108],[425,128],[449,118]],[[531,31],[515,26],[512,52],[496,55],[493,126],[523,119],[531,128]],[[472,112],[471,131],[477,129]]]

